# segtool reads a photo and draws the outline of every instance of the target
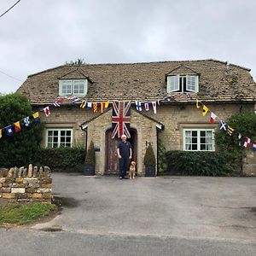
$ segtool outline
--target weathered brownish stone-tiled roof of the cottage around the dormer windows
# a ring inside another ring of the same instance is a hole
[[[177,96],[171,102],[247,101],[256,99],[256,84],[250,69],[224,61],[160,61],[127,64],[63,65],[29,75],[18,92],[28,96],[32,104],[49,104],[59,96],[59,79],[90,80],[87,98],[91,101],[163,99],[167,74],[200,76],[196,95]]]

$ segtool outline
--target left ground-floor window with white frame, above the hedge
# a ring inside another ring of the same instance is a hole
[[[72,146],[72,129],[47,129],[46,130],[46,147],[71,147]]]

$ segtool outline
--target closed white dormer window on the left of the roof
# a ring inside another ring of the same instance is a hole
[[[60,80],[59,95],[85,96],[87,94],[87,80]]]

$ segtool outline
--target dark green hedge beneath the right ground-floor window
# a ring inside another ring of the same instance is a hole
[[[233,168],[222,152],[168,151],[167,170],[172,175],[230,176]]]

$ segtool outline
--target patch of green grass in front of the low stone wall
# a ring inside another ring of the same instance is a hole
[[[55,205],[41,203],[0,205],[0,224],[29,224],[56,209]]]

